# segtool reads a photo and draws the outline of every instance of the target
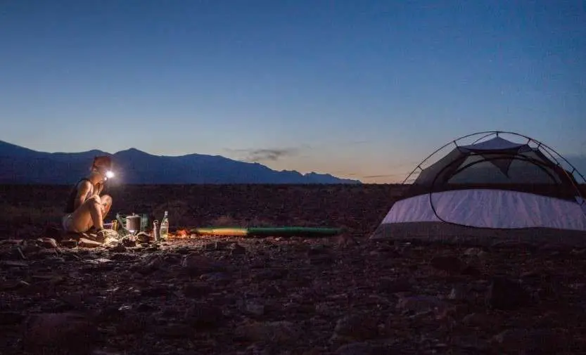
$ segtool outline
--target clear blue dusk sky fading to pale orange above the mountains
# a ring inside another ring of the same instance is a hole
[[[402,180],[518,131],[586,155],[584,1],[2,1],[0,139]]]

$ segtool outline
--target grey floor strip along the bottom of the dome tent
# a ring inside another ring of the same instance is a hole
[[[495,243],[524,243],[535,246],[586,247],[586,231],[554,228],[491,229],[457,226],[442,222],[381,224],[370,240],[410,240],[460,245],[491,246]]]

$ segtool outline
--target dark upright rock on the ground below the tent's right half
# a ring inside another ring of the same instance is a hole
[[[512,310],[530,304],[531,295],[517,281],[495,277],[488,287],[485,302],[492,309]]]

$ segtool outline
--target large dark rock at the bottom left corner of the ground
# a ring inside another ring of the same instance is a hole
[[[34,314],[25,320],[23,344],[35,354],[87,354],[97,341],[96,325],[82,314]]]

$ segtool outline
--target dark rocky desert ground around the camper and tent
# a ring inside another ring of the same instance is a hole
[[[87,247],[46,229],[68,187],[0,188],[0,354],[586,352],[585,250],[369,242],[394,186],[127,186],[177,228],[347,232]]]

